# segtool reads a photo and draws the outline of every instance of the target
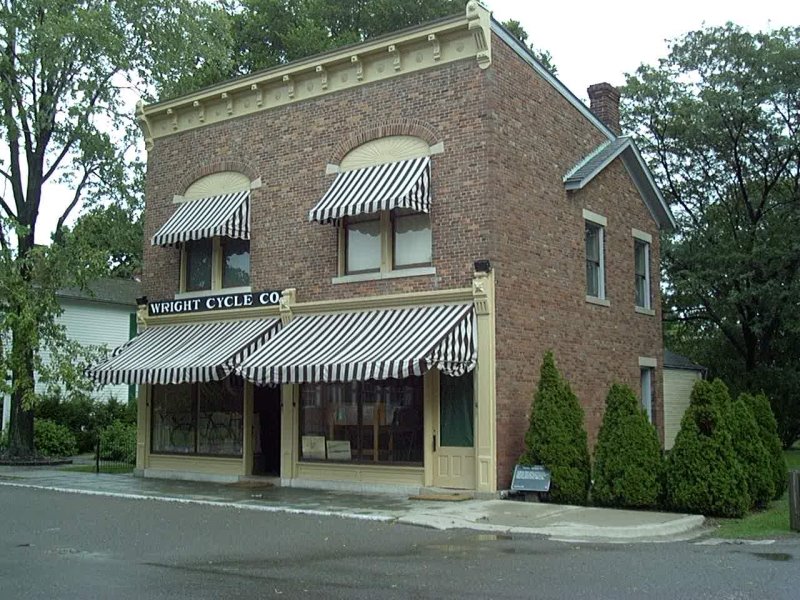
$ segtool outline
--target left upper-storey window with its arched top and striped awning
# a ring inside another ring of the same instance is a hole
[[[214,173],[187,188],[152,243],[181,251],[180,292],[250,286],[250,181]]]

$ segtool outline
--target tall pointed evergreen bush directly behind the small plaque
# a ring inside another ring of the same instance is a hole
[[[586,504],[591,466],[583,409],[558,372],[552,352],[542,361],[525,446],[520,464],[547,467],[554,502]]]

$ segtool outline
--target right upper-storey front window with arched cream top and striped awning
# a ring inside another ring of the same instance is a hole
[[[312,221],[339,225],[339,275],[434,272],[429,154],[423,140],[391,136],[342,160],[336,180],[309,213]]]

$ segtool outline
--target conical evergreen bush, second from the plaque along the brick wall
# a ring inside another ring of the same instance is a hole
[[[633,390],[615,383],[597,437],[592,500],[601,506],[653,508],[661,499],[663,472],[655,427]]]

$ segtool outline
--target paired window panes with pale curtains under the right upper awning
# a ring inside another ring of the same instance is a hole
[[[426,213],[393,210],[349,217],[342,231],[346,275],[385,273],[432,264],[431,219]]]

